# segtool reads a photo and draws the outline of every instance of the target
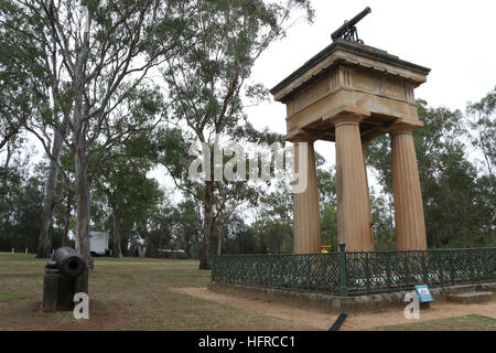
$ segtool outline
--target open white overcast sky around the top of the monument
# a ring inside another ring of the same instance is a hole
[[[304,62],[332,43],[331,33],[344,20],[370,7],[357,28],[371,45],[402,60],[430,67],[428,82],[416,97],[432,106],[465,109],[496,85],[496,1],[444,0],[314,0],[313,24],[299,21],[285,39],[271,44],[256,63],[255,82],[272,88]],[[284,105],[276,101],[248,109],[257,128],[285,133]],[[334,143],[316,150],[335,163]],[[370,176],[370,173],[369,173]]]

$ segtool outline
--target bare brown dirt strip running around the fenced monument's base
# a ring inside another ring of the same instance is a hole
[[[292,320],[316,330],[328,330],[337,319],[336,313],[306,308],[302,304],[278,303],[258,296],[234,296],[209,291],[207,288],[177,288],[177,291],[193,297],[215,301],[228,307],[249,310],[258,314],[271,315]],[[434,302],[431,309],[421,311],[419,320],[407,320],[403,309],[385,309],[376,312],[349,313],[343,331],[366,330],[377,327],[429,321],[443,318],[463,317],[466,314],[481,314],[496,319],[496,301],[487,303],[459,304],[450,302]]]

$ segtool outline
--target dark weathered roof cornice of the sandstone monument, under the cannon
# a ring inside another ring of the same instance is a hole
[[[324,69],[332,67],[333,65],[342,62],[347,62],[345,57],[333,57],[331,56],[335,54],[336,52],[347,52],[351,54],[355,54],[356,56],[360,58],[365,58],[368,61],[373,61],[375,63],[384,63],[386,64],[385,67],[375,67],[374,65],[369,65],[371,68],[381,69],[386,72],[390,72],[388,68],[399,68],[407,71],[406,78],[412,79],[414,82],[418,82],[418,84],[425,82],[424,76],[429,74],[431,71],[428,67],[420,66],[417,64],[412,64],[410,62],[400,60],[396,55],[391,55],[388,52],[384,50],[379,50],[373,46],[368,46],[365,44],[359,44],[351,41],[345,40],[336,40],[332,44],[324,47],[320,53],[314,55],[311,60],[309,60],[306,63],[304,63],[300,68],[298,68],[295,72],[293,72],[291,75],[285,77],[283,81],[281,81],[278,85],[276,85],[272,89],[270,89],[270,93],[272,95],[277,95],[276,100],[280,100],[284,96],[289,95],[293,90],[298,89],[303,83],[311,79],[312,77],[315,77],[320,73],[322,73]],[[330,60],[331,58],[331,60]],[[327,60],[326,63],[324,63]],[[351,64],[364,64],[362,62],[351,62]],[[316,68],[317,66],[321,66],[316,69],[316,72],[310,72],[312,68]],[[367,65],[364,65],[367,66]],[[401,72],[390,72],[391,74],[403,76],[405,73]],[[414,75],[414,73],[419,74],[418,76]],[[305,75],[306,74],[306,75]],[[413,75],[409,75],[413,74]],[[305,77],[302,77],[305,76]],[[414,77],[412,77],[414,76]],[[296,85],[290,86],[293,82],[295,82],[298,78],[299,83]],[[422,78],[423,77],[423,78]],[[284,89],[287,88],[287,89]],[[284,92],[281,92],[283,90]]]

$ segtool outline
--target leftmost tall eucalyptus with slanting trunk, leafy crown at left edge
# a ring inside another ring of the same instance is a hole
[[[0,4],[0,39],[2,63],[7,62],[2,78],[2,115],[9,114],[10,119],[17,119],[17,127],[33,131],[45,143],[53,157],[45,183],[45,200],[42,213],[42,226],[37,247],[37,257],[48,257],[51,238],[48,229],[55,207],[55,183],[57,179],[57,162],[62,150],[62,133],[50,127],[48,120],[61,124],[62,113],[68,114],[68,104],[62,97],[60,55],[54,45],[40,41],[43,24],[29,17],[30,3],[19,1],[2,1]],[[51,55],[46,55],[52,49]],[[3,64],[2,64],[3,66]],[[14,99],[17,96],[18,99]],[[56,105],[52,97],[56,97]],[[8,113],[6,113],[8,111]],[[35,118],[37,117],[37,118]],[[9,126],[14,124],[10,122]],[[36,129],[36,126],[41,128]],[[13,128],[12,128],[13,131]]]

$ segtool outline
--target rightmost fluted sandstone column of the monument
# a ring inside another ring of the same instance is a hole
[[[411,127],[401,127],[390,132],[398,250],[427,249],[422,193],[412,130]]]

